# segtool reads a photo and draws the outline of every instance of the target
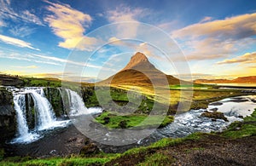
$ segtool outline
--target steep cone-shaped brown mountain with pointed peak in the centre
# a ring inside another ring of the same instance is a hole
[[[156,85],[166,84],[165,79],[167,79],[169,84],[180,83],[180,80],[176,77],[166,75],[164,72],[160,72],[160,70],[156,69],[155,66],[149,62],[145,54],[137,52],[131,57],[130,62],[125,68],[100,82],[100,84],[111,83],[112,85],[152,86],[152,83]],[[183,81],[181,82],[185,83]]]

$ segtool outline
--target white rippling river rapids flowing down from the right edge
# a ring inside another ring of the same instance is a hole
[[[148,145],[165,137],[179,138],[195,132],[209,133],[211,131],[222,131],[230,123],[242,121],[242,117],[250,116],[256,108],[256,95],[226,98],[211,103],[207,110],[190,110],[175,116],[174,122],[165,128],[157,129],[152,135],[139,140],[139,145]],[[212,118],[201,117],[203,112],[212,112],[212,109],[223,112],[229,122],[223,119],[212,120]]]

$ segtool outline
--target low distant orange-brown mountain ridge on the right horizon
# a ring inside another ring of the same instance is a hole
[[[197,79],[194,83],[256,83],[256,76],[237,77],[236,79]]]

